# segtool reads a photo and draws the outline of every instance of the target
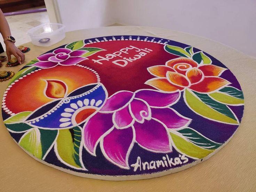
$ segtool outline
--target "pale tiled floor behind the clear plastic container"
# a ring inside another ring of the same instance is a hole
[[[46,11],[23,15],[6,16],[6,19],[11,29],[11,35],[14,36],[16,39],[16,46],[31,41],[29,36],[26,34],[29,29],[43,23],[49,23],[49,17]],[[3,45],[3,49],[5,49],[1,35],[0,42]]]

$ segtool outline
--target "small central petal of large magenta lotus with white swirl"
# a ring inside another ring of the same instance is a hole
[[[130,109],[138,122],[143,122],[144,119],[149,120],[151,118],[150,107],[146,105],[145,101],[133,99],[130,103]]]

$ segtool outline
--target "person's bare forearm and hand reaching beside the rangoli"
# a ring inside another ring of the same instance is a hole
[[[2,10],[0,9],[0,33],[3,36],[3,39],[7,36],[11,36],[11,31],[10,31],[10,27],[7,23],[7,20],[5,18],[5,16],[3,15]],[[6,54],[8,57],[8,60],[10,61],[11,59],[11,55],[14,55],[19,64],[22,64],[25,60],[25,55],[24,53],[22,53],[15,45],[13,42],[11,41],[5,41],[5,46],[6,46]]]

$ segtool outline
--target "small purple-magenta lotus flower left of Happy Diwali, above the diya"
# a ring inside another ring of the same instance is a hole
[[[75,50],[67,48],[59,48],[54,50],[52,53],[46,53],[40,55],[37,59],[39,62],[36,62],[32,66],[40,68],[50,68],[56,65],[74,65],[80,61],[86,60],[86,57],[79,57],[85,54],[86,50]]]

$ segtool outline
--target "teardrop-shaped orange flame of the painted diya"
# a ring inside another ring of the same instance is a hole
[[[64,98],[67,93],[67,86],[59,80],[45,80],[46,89],[45,95],[51,99]]]

